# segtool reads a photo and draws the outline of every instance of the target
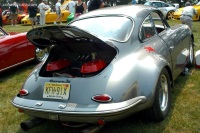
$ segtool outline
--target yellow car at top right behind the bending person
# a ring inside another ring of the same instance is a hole
[[[193,16],[193,21],[199,21],[200,20],[200,2],[198,2],[196,5],[193,6],[196,11],[197,11],[197,14]],[[184,8],[184,7],[183,7]],[[174,12],[174,19],[175,20],[180,20],[180,16],[181,16],[181,13],[183,11],[183,8],[179,8],[177,9],[175,12]]]

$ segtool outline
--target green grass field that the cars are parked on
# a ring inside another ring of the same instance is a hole
[[[170,25],[180,21],[169,21]],[[193,23],[195,50],[200,49],[200,22]],[[29,31],[31,26],[4,26],[6,31]],[[18,113],[10,103],[18,93],[35,64],[28,63],[0,74],[0,133],[24,133],[20,122],[30,119]],[[200,70],[193,68],[192,75],[180,76],[172,90],[172,106],[169,116],[160,123],[152,123],[133,115],[124,120],[106,124],[101,132],[109,133],[200,133]],[[60,122],[49,121],[28,133],[76,133],[79,129],[64,127]]]

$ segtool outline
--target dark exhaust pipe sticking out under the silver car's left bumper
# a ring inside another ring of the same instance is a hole
[[[46,120],[45,119],[41,119],[41,118],[33,118],[31,120],[28,121],[24,121],[20,124],[22,130],[24,131],[28,131],[42,123],[44,123]]]

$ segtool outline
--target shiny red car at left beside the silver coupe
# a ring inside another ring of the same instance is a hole
[[[40,50],[29,42],[26,32],[7,33],[0,28],[0,73],[31,60],[38,63],[47,55],[47,50]]]

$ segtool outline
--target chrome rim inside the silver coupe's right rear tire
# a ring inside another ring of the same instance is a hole
[[[165,75],[161,76],[160,89],[159,89],[159,104],[160,109],[165,111],[168,104],[168,83]]]

